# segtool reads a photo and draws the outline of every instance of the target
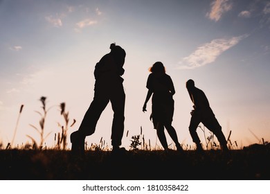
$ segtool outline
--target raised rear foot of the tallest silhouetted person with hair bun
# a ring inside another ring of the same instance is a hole
[[[76,157],[84,157],[84,139],[79,131],[71,133],[71,153]]]

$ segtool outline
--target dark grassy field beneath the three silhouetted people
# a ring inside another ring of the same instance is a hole
[[[0,179],[83,180],[237,180],[270,179],[269,146],[230,150],[87,151],[85,159],[69,150],[0,150]]]

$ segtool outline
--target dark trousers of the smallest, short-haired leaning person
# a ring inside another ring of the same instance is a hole
[[[192,113],[189,131],[193,142],[195,142],[196,144],[201,143],[199,136],[197,134],[197,127],[199,123],[203,123],[204,126],[208,128],[208,130],[213,132],[213,134],[217,136],[217,140],[221,145],[227,144],[226,138],[222,132],[222,126],[219,125],[217,118],[215,118],[215,114],[213,114],[211,110],[207,112],[199,112],[199,111],[197,112],[195,110]]]

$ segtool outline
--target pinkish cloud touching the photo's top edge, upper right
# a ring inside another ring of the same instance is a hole
[[[211,4],[211,10],[206,16],[215,21],[219,21],[225,12],[233,8],[233,4],[229,0],[215,0]]]

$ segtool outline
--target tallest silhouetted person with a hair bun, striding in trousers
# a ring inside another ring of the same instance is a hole
[[[124,132],[125,91],[123,89],[125,50],[116,44],[111,44],[111,52],[104,55],[96,64],[94,76],[96,79],[93,101],[82,119],[78,129],[71,134],[71,152],[84,155],[84,140],[93,134],[103,110],[111,102],[114,118],[111,128],[111,145],[113,151],[120,150]],[[125,148],[122,148],[125,149]]]

